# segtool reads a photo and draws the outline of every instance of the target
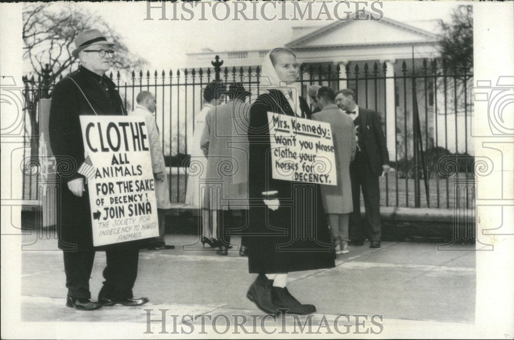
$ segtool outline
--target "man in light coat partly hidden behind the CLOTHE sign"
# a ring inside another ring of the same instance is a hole
[[[157,217],[159,219],[159,237],[149,244],[151,250],[174,249],[173,245],[167,245],[164,241],[164,217],[166,209],[171,209],[170,194],[168,191],[168,176],[164,155],[162,154],[159,139],[159,129],[155,122],[155,109],[157,107],[155,96],[152,92],[141,91],[136,97],[136,106],[131,112],[132,116],[144,117],[148,138],[150,140],[150,155],[152,158],[152,171],[155,177],[155,198],[157,199]]]

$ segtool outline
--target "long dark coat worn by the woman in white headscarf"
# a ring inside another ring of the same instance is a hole
[[[310,109],[300,98],[304,117]],[[335,253],[317,184],[273,179],[267,112],[296,117],[283,93],[269,90],[250,108],[249,272],[287,273],[332,268]],[[263,192],[278,191],[280,207],[268,209]]]

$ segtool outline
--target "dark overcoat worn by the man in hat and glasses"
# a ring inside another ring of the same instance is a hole
[[[75,81],[75,82],[74,82]],[[78,86],[77,86],[78,85]],[[111,89],[113,100],[109,100],[101,86]],[[79,89],[80,87],[80,89]],[[126,115],[115,84],[105,75],[99,75],[80,66],[58,82],[52,92],[50,106],[49,134],[50,146],[56,157],[56,171],[60,176],[60,207],[58,222],[59,248],[77,251],[106,250],[134,247],[136,241],[93,247],[91,233],[91,213],[87,185],[82,197],[77,197],[68,189],[68,181],[84,178],[77,173],[84,162],[84,145],[80,127],[81,115]],[[81,92],[82,90],[82,92]],[[117,102],[118,105],[113,105]]]

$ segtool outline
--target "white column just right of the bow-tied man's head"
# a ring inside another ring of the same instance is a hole
[[[389,159],[394,160],[394,155],[396,154],[396,138],[395,138],[395,130],[396,130],[396,122],[394,117],[394,109],[395,109],[395,91],[394,88],[394,64],[396,60],[390,59],[386,60],[386,77],[391,77],[386,79],[386,140],[387,140],[387,149],[389,151]],[[383,65],[384,60],[380,61],[380,66]]]

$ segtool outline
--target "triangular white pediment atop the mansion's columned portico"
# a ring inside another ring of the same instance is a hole
[[[289,42],[292,48],[337,45],[434,42],[437,35],[417,27],[383,18],[380,21],[346,20],[335,22]]]

